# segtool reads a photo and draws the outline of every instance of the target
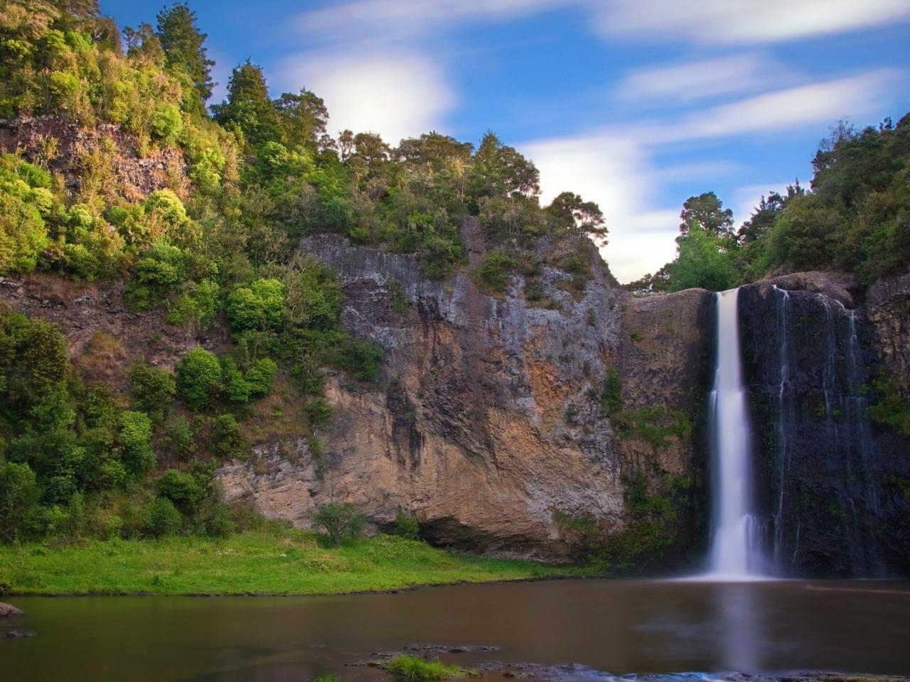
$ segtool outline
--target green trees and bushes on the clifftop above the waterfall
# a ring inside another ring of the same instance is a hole
[[[813,160],[808,190],[763,196],[733,232],[713,194],[691,196],[680,217],[678,256],[632,291],[721,290],[774,272],[854,273],[869,285],[910,264],[910,115],[857,130],[840,122]]]

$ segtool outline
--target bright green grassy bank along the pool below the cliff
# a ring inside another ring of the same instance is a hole
[[[297,531],[0,547],[7,594],[344,594],[581,575],[583,568],[452,554],[400,537],[324,548]]]

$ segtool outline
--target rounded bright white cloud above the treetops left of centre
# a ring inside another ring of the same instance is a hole
[[[319,93],[329,109],[329,130],[379,133],[390,144],[442,125],[456,96],[437,65],[415,51],[300,55],[279,80]]]

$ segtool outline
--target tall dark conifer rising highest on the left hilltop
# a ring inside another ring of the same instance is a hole
[[[212,69],[215,65],[207,57],[207,34],[196,26],[196,13],[186,3],[175,3],[157,14],[157,36],[167,58],[168,68],[182,69],[193,81],[204,104],[212,96]]]

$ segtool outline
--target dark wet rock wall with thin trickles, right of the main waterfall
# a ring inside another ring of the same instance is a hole
[[[907,280],[862,300],[821,273],[744,286],[740,323],[765,540],[783,575],[910,572],[910,444],[868,409],[908,385]]]

